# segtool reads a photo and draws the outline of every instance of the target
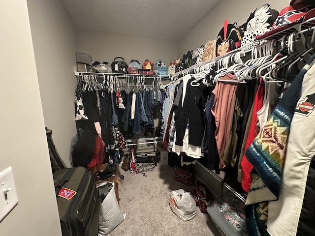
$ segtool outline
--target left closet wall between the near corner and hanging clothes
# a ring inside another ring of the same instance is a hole
[[[70,167],[70,142],[76,134],[75,29],[60,0],[28,0],[28,8],[45,125]]]

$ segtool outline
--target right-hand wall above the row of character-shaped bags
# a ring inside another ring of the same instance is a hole
[[[207,15],[194,25],[178,42],[178,57],[189,50],[204,45],[209,39],[217,39],[225,19],[233,24],[242,25],[246,22],[251,12],[264,3],[269,3],[271,8],[279,12],[289,5],[289,0],[221,0]]]

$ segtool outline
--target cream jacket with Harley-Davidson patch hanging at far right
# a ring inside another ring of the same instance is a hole
[[[292,118],[279,200],[269,202],[267,231],[271,236],[306,236],[315,232],[314,81],[315,65],[304,76]]]

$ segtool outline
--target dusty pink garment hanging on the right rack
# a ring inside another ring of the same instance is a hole
[[[236,76],[228,73],[220,78],[224,80],[235,80],[236,83],[218,82],[212,93],[214,94],[214,105],[211,109],[216,121],[215,137],[220,157],[219,168],[223,169],[226,165],[224,162],[224,149],[229,139],[231,128],[233,106],[235,102],[235,90],[237,86]]]

